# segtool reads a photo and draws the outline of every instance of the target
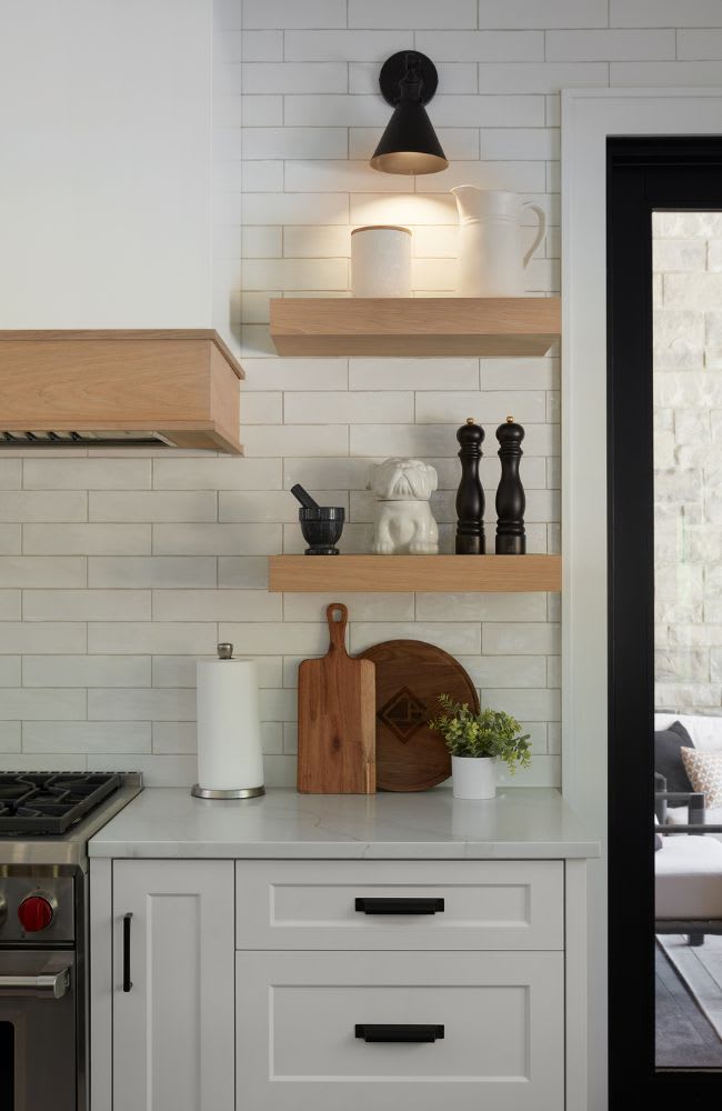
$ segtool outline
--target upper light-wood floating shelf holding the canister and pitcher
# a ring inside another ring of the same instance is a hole
[[[274,298],[283,356],[543,356],[561,332],[558,297]]]

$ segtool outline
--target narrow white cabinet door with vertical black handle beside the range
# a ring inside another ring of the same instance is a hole
[[[116,861],[113,920],[113,1111],[231,1111],[232,862]]]

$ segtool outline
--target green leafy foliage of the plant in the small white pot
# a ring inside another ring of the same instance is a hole
[[[475,713],[467,702],[454,702],[449,694],[439,694],[442,713],[429,724],[447,742],[453,757],[491,757],[503,760],[513,774],[517,768],[531,763],[529,733],[503,710],[484,708]]]

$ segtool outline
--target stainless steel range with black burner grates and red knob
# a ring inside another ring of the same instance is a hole
[[[0,773],[0,1109],[88,1108],[88,841],[139,773]]]

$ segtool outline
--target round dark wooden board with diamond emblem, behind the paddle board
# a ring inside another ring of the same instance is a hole
[[[429,720],[439,694],[479,709],[471,679],[452,655],[419,640],[384,640],[359,659],[377,665],[377,788],[424,791],[451,775],[451,755]]]

